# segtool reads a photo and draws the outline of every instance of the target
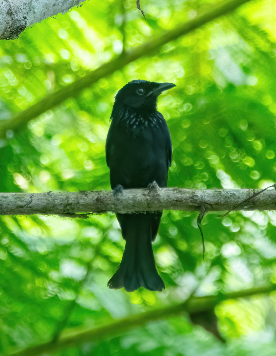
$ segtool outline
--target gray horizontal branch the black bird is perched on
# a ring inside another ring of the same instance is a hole
[[[276,190],[141,188],[125,189],[116,196],[113,191],[0,193],[0,215],[76,217],[76,213],[103,214],[107,211],[200,211],[201,206],[207,211],[276,210]]]

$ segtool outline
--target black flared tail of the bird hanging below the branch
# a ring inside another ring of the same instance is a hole
[[[139,228],[132,232],[133,234],[126,239],[120,266],[107,285],[112,289],[124,287],[128,292],[139,287],[161,292],[165,285],[156,270],[151,235],[141,235]]]

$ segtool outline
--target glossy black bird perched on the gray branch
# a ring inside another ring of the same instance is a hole
[[[118,91],[105,147],[115,194],[123,188],[146,188],[156,183],[167,187],[172,141],[156,107],[158,95],[173,87],[172,83],[132,80]],[[126,243],[108,287],[124,287],[128,292],[139,287],[161,291],[165,286],[156,270],[151,242],[157,235],[162,211],[116,216]]]

